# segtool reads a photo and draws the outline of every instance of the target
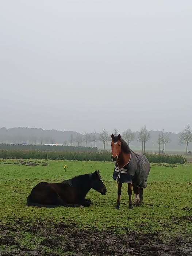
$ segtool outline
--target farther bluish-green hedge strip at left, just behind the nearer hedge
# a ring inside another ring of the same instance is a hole
[[[0,149],[9,150],[37,150],[37,151],[70,151],[70,152],[97,152],[97,148],[81,146],[55,146],[55,145],[21,145],[0,144]]]

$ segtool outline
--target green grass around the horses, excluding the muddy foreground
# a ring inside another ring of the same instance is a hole
[[[161,232],[165,237],[178,234],[186,237],[192,233],[188,220],[188,216],[192,215],[191,165],[165,167],[151,164],[147,188],[143,191],[144,204],[131,211],[128,210],[127,184],[122,186],[120,210],[114,209],[117,198],[117,184],[112,179],[114,163],[48,160],[48,166],[27,167],[5,165],[3,161],[0,161],[0,223],[9,227],[7,236],[14,235],[21,246],[28,246],[31,250],[44,237],[41,233],[34,235],[27,231],[26,224],[43,223],[49,228],[53,223],[65,222],[74,223],[82,229],[109,229],[118,233],[124,233],[127,229],[143,233]],[[68,167],[66,171],[64,164]],[[102,196],[91,190],[87,195],[92,200],[91,207],[46,209],[26,206],[28,194],[40,181],[58,182],[96,169],[100,169],[107,194]],[[12,230],[10,227],[13,227]],[[0,239],[1,236],[0,233]],[[4,245],[0,249],[4,250]],[[14,245],[10,245],[9,250],[13,249]],[[44,249],[47,253],[51,250],[47,247]]]

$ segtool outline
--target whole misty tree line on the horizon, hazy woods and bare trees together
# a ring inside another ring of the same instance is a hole
[[[118,135],[119,131],[115,128],[113,131],[111,131],[111,133]],[[2,127],[0,128],[0,143],[16,142],[18,144],[26,143],[30,145],[44,145],[49,143],[54,144],[57,142],[59,144],[63,144],[64,146],[76,145],[78,147],[85,148],[87,148],[87,146],[96,148],[98,145],[101,145],[102,149],[105,150],[106,142],[111,141],[111,133],[109,133],[106,129],[103,129],[99,133],[96,133],[96,130],[94,130],[92,133],[81,134],[74,131],[43,130],[22,127],[6,129],[5,127]],[[166,144],[170,142],[172,142],[175,147],[175,142],[178,140],[178,144],[186,144],[186,154],[188,154],[188,146],[192,141],[192,131],[190,126],[186,125],[182,133],[178,134],[176,140],[173,140],[173,138],[171,140],[169,135],[170,133],[165,132],[164,129],[158,134],[158,138],[157,135],[155,135],[155,140],[157,139],[155,143],[158,145],[159,153],[165,153]],[[141,129],[136,133],[131,131],[131,129],[127,129],[121,133],[121,136],[128,145],[130,145],[130,143],[133,141],[137,141],[137,144],[140,143],[143,153],[146,151],[147,142],[150,141],[150,144],[152,143],[154,145],[154,141],[151,142],[151,134],[147,130],[146,125],[142,126]]]

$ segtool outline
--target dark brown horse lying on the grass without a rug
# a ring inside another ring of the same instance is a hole
[[[62,183],[40,182],[27,197],[28,206],[38,207],[84,207],[90,206],[91,200],[85,199],[89,190],[104,195],[107,191],[99,171],[79,175]]]

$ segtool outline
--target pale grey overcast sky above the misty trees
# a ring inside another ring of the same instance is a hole
[[[0,127],[192,126],[192,1],[0,1]]]

